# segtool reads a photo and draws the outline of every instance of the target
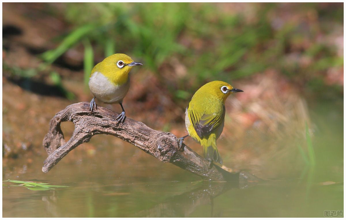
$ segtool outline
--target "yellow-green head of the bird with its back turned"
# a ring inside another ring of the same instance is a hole
[[[228,83],[222,81],[209,82],[203,85],[199,90],[202,93],[210,94],[212,96],[217,97],[220,101],[224,103],[226,101],[226,98],[231,93],[244,92],[243,90],[235,89]]]

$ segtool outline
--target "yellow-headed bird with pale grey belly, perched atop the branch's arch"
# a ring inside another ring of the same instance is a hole
[[[95,98],[104,103],[119,103],[121,114],[116,118],[118,122],[125,121],[125,110],[122,99],[130,87],[130,70],[141,63],[134,62],[126,54],[113,54],[98,63],[91,71],[89,88],[94,98],[90,102],[90,110],[97,109]]]

